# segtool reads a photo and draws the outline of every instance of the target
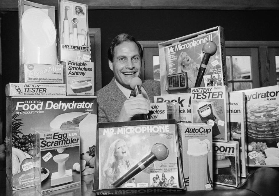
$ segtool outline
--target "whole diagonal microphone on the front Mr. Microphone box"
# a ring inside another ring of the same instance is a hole
[[[169,155],[169,149],[162,143],[156,143],[152,146],[151,152],[144,157],[140,162],[138,162],[133,168],[131,168],[126,174],[124,174],[120,179],[115,181],[112,185],[116,188],[121,184],[125,183],[133,176],[137,175],[139,172],[144,170],[154,161],[162,161],[166,159]]]

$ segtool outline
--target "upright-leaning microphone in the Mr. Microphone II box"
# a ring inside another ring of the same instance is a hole
[[[200,87],[203,75],[208,64],[209,58],[214,55],[217,51],[217,45],[215,42],[207,41],[203,45],[203,60],[201,61],[200,69],[198,70],[198,76],[195,83],[195,87]]]

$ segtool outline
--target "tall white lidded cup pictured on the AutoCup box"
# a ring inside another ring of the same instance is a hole
[[[208,139],[188,140],[189,190],[204,190],[205,185],[208,184],[208,149],[210,151]]]

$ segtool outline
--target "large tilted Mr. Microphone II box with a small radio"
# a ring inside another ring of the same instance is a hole
[[[215,42],[217,51],[209,58],[200,87],[227,85],[224,29],[217,26],[159,43],[161,95],[190,92],[207,41]]]

